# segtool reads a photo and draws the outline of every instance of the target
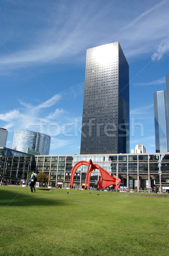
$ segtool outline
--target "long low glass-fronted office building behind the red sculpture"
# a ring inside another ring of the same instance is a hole
[[[52,187],[70,186],[73,166],[81,161],[92,160],[107,169],[110,175],[121,179],[120,186],[135,186],[137,189],[169,189],[169,153],[148,154],[92,154],[92,155],[38,155],[33,156],[9,148],[0,148],[0,177],[5,177],[14,184],[18,179],[27,179],[28,172],[44,172],[49,176],[48,184]],[[80,166],[74,175],[73,186],[85,186],[87,166]],[[93,170],[90,186],[97,187],[100,179],[98,170]]]

